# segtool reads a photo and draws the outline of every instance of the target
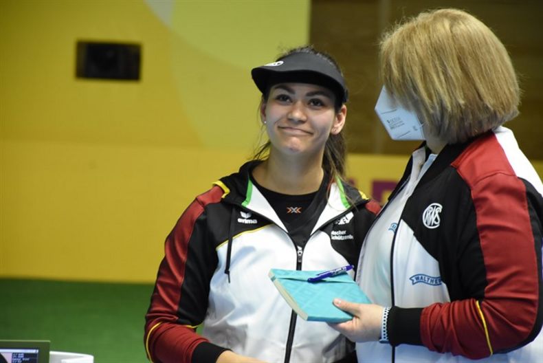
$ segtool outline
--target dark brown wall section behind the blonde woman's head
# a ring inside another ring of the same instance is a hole
[[[515,131],[529,158],[543,159],[540,0],[313,0],[310,41],[337,58],[351,91],[346,128],[349,151],[408,154],[417,146],[417,142],[390,140],[373,111],[381,89],[377,71],[379,38],[402,17],[447,7],[474,14],[494,30],[509,50],[524,94],[520,115],[506,126]]]

